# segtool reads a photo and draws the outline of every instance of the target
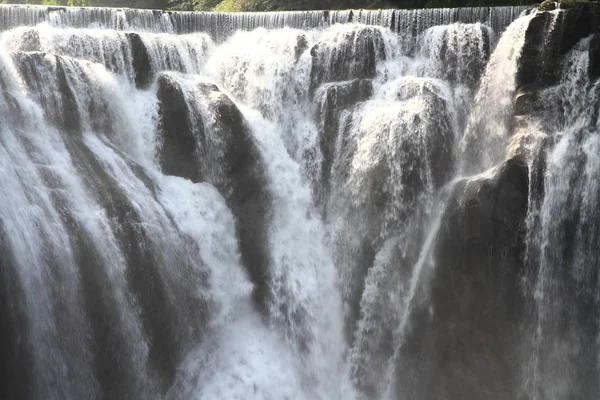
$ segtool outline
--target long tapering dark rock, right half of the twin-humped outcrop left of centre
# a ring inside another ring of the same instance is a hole
[[[219,189],[236,217],[242,262],[255,285],[254,302],[267,314],[271,296],[267,235],[271,198],[264,161],[235,103],[214,85],[202,85],[200,91],[205,96],[209,115],[214,116],[211,135],[221,141],[219,144],[206,140],[205,179]],[[219,148],[212,148],[211,143]]]

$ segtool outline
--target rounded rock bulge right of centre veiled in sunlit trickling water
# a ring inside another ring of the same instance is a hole
[[[330,177],[325,178],[326,217],[344,226],[336,227],[334,261],[345,274],[349,342],[376,255],[388,239],[410,231],[397,259],[412,265],[409,260],[418,256],[412,241],[420,239],[418,227],[427,206],[452,174],[452,115],[438,84],[406,78],[389,109],[359,103],[343,112],[338,132],[326,142],[326,149],[334,149]],[[419,104],[419,114],[407,107],[413,102]]]

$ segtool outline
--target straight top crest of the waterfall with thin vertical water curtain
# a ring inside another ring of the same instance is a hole
[[[258,13],[166,12],[95,7],[0,5],[2,30],[47,23],[58,28],[102,28],[141,32],[209,34],[218,43],[238,31],[265,29],[322,29],[335,24],[381,26],[399,33],[407,48],[425,30],[440,25],[485,23],[504,30],[527,7],[468,7],[421,10],[284,11]]]

